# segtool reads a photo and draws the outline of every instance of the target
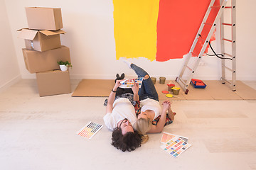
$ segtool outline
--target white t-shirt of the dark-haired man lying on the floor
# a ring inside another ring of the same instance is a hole
[[[117,123],[120,120],[127,118],[129,122],[134,125],[136,123],[137,117],[135,113],[134,106],[127,98],[118,98],[113,103],[113,110],[112,113],[107,113],[103,120],[105,125],[110,130],[114,130],[117,127]]]

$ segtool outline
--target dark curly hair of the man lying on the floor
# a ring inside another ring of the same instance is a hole
[[[127,132],[125,135],[122,135],[121,128],[114,128],[112,132],[112,143],[114,147],[125,152],[126,150],[131,152],[137,147],[141,147],[142,135],[139,134],[136,130],[134,132]]]

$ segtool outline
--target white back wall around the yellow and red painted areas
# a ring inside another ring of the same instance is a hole
[[[18,67],[23,79],[35,78],[35,74],[30,74],[23,62],[21,48],[25,47],[24,42],[16,38],[16,30],[27,28],[24,9],[26,6],[62,8],[63,30],[67,34],[61,35],[61,41],[63,45],[70,47],[73,64],[73,69],[70,70],[71,79],[114,79],[116,73],[122,72],[129,76],[134,75],[132,70],[115,58],[112,0],[6,0],[5,2]],[[237,1],[237,79],[239,80],[256,80],[254,54],[256,11],[253,8],[255,5],[255,0]],[[215,42],[213,45],[215,46]],[[219,47],[215,49],[218,50]],[[143,67],[151,76],[175,79],[184,59],[150,62],[139,58],[130,61]],[[216,57],[203,57],[203,62],[206,65],[198,67],[195,78],[219,79],[220,61]]]

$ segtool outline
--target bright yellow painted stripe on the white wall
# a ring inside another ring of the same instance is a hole
[[[113,0],[116,57],[156,60],[159,0]]]

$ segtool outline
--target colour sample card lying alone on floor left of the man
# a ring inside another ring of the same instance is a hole
[[[103,127],[103,125],[89,122],[82,129],[76,132],[77,135],[81,137],[85,137],[91,139],[99,130]]]

